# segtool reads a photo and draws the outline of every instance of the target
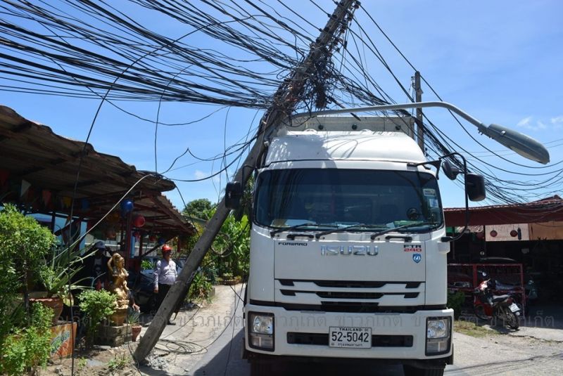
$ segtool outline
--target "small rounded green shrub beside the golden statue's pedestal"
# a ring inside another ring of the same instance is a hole
[[[86,339],[87,345],[94,343],[94,337],[102,320],[115,312],[118,297],[106,290],[87,290],[80,294],[80,310],[87,319]]]

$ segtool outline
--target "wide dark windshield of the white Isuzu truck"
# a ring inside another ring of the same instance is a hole
[[[418,222],[406,231],[428,232],[443,223],[436,178],[417,171],[267,170],[255,194],[255,222],[270,228],[373,233]]]

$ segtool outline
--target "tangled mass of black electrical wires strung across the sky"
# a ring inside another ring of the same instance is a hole
[[[0,41],[4,46],[0,51],[0,88],[35,95],[105,98],[118,110],[155,123],[155,143],[159,125],[198,124],[217,108],[264,111],[279,105],[280,91],[294,84],[303,85],[298,96],[291,98],[292,110],[297,112],[396,103],[377,82],[384,74],[414,101],[375,43],[374,32],[379,31],[413,70],[415,65],[359,4],[359,12],[346,15],[346,22],[329,44],[317,46],[326,51],[312,62],[306,79],[289,82],[292,70],[307,56],[310,46],[315,46],[320,25],[311,20],[322,19],[334,8],[333,1],[310,0],[307,5],[315,14],[304,17],[281,0],[4,1],[0,4]],[[369,67],[372,62],[383,69]],[[422,80],[440,98],[424,77]],[[208,115],[185,122],[155,122],[126,110],[121,101],[216,107]],[[410,113],[398,110],[383,115]],[[468,151],[426,117],[426,154],[435,159],[453,150],[467,155],[469,170],[486,177],[488,202],[518,203],[558,193],[563,161],[544,167],[519,164],[505,153],[487,148],[455,119],[481,150]],[[212,157],[196,155],[186,146],[161,173],[207,162],[217,163],[220,169],[197,179],[171,179],[201,181],[226,176],[248,153],[259,129],[259,125],[249,128],[248,134]],[[184,162],[187,157],[194,162]],[[491,157],[495,160],[488,159]],[[461,167],[459,160],[452,162]]]

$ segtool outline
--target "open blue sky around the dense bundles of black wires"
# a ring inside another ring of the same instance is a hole
[[[322,26],[326,15],[314,11],[305,1],[287,1],[301,14],[308,15],[315,25]],[[332,1],[319,1],[331,10]],[[563,138],[563,14],[561,1],[362,1],[372,15],[442,98],[469,112],[486,124],[498,123],[522,131],[538,141],[550,143]],[[151,20],[148,13],[135,13],[142,20]],[[360,24],[388,60],[400,82],[409,86],[413,74],[398,53],[375,27],[358,12]],[[179,25],[151,20],[160,32],[184,34]],[[194,35],[194,42],[198,37]],[[376,61],[367,62],[367,69],[398,103],[407,101],[392,77]],[[423,99],[436,100],[423,85]],[[37,96],[23,93],[0,93],[0,103],[16,110],[27,119],[46,124],[58,134],[84,140],[99,101],[58,96]],[[123,107],[151,119],[156,118],[158,103],[120,103]],[[186,127],[159,127],[158,170],[167,168],[186,147],[200,156],[222,153],[255,127],[261,113],[238,108],[221,109],[212,105],[163,103],[160,119],[168,122],[189,122],[210,112],[205,122]],[[444,110],[427,110],[426,115],[459,142],[486,162],[510,171],[536,172],[503,162],[468,139],[462,129]],[[254,122],[253,122],[254,119]],[[227,124],[227,131],[224,131]],[[467,125],[476,135],[476,129]],[[492,150],[514,162],[538,166],[510,153],[484,136],[476,136]],[[155,169],[153,152],[154,125],[115,110],[107,103],[96,119],[90,143],[101,153],[118,155],[137,169]],[[562,147],[550,143],[552,162],[563,159]],[[201,179],[221,168],[220,163],[182,159],[172,179]],[[560,167],[559,167],[560,168]],[[545,170],[555,170],[556,167]],[[545,171],[543,170],[543,171]],[[234,169],[229,171],[231,174]],[[495,171],[495,174],[502,176]],[[508,176],[508,175],[507,175]],[[511,179],[514,176],[510,176]],[[526,180],[535,178],[525,178]],[[217,201],[225,178],[199,183],[177,182],[184,200],[205,197]],[[463,205],[460,188],[441,179],[446,207]],[[177,192],[167,193],[181,209]]]

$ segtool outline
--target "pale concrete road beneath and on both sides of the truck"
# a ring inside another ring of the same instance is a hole
[[[250,366],[241,359],[242,302],[241,285],[236,294],[229,286],[217,286],[213,304],[184,313],[177,326],[169,326],[159,342],[152,368],[141,368],[146,375],[248,376]],[[234,315],[234,316],[233,316]],[[547,330],[547,332],[546,332]],[[555,330],[555,332],[554,332]],[[548,339],[533,337],[548,333]],[[446,375],[561,375],[563,373],[563,342],[557,341],[559,328],[527,329],[509,335],[492,333],[474,338],[455,333],[455,365],[446,368]],[[539,333],[539,334],[538,334]],[[177,351],[175,351],[177,350]],[[158,368],[162,368],[159,370]],[[402,376],[400,366],[377,369],[306,363],[283,365],[277,375],[355,375]]]

